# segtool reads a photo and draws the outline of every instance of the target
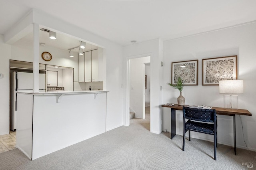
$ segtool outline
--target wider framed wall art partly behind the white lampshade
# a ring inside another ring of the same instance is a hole
[[[219,85],[220,80],[237,79],[237,55],[203,59],[202,85]]]

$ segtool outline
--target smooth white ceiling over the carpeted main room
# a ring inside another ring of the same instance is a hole
[[[256,0],[0,0],[0,34],[31,8],[124,46],[256,21]]]

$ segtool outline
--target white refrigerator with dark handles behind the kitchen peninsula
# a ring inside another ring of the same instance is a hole
[[[46,91],[46,74],[39,73],[39,91]],[[14,71],[10,74],[10,129],[16,130],[16,91],[33,91],[33,73]]]

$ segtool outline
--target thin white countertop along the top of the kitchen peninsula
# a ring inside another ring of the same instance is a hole
[[[91,90],[91,91],[48,91],[48,92],[23,92],[17,91],[16,93],[28,95],[71,95],[71,94],[84,94],[84,93],[106,93],[105,90]]]

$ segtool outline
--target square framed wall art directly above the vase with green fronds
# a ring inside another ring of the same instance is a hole
[[[172,62],[172,84],[177,84],[178,77],[184,85],[198,85],[198,59]]]

